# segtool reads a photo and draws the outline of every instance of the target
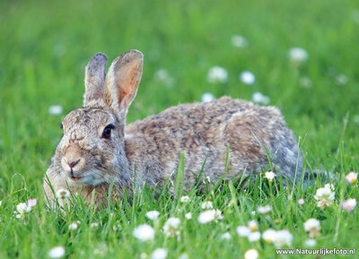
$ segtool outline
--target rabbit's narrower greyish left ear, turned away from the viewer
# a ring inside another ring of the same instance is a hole
[[[102,53],[97,53],[95,56],[92,56],[89,64],[86,65],[83,107],[98,105],[99,101],[103,98],[106,63],[107,56]]]

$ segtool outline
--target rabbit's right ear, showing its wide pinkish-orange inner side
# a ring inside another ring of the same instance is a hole
[[[118,114],[126,116],[128,107],[135,99],[143,64],[143,54],[133,49],[118,56],[109,67],[103,99]]]

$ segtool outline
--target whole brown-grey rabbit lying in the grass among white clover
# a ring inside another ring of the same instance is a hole
[[[136,97],[144,56],[130,50],[105,73],[107,56],[98,53],[85,68],[83,108],[63,120],[64,135],[46,171],[43,187],[54,204],[58,190],[69,188],[86,203],[106,206],[109,186],[120,191],[136,186],[162,186],[173,177],[183,152],[184,188],[204,174],[216,183],[258,175],[268,166],[280,170],[285,183],[302,173],[302,153],[278,108],[223,97],[208,103],[180,104],[157,115],[126,124]],[[243,175],[244,174],[244,175]],[[92,195],[94,195],[92,197]]]

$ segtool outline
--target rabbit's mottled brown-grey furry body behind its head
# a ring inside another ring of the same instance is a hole
[[[161,185],[185,155],[185,186],[204,172],[214,182],[223,176],[230,147],[227,178],[259,173],[268,165],[293,180],[298,157],[293,132],[280,111],[241,99],[223,97],[209,103],[183,104],[127,125],[125,151],[136,181]]]

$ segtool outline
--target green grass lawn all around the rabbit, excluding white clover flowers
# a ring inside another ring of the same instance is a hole
[[[348,185],[343,178],[359,170],[358,9],[355,0],[2,1],[0,258],[47,258],[53,246],[65,246],[66,258],[139,258],[157,247],[166,248],[168,258],[182,253],[189,258],[242,258],[252,247],[260,258],[276,258],[275,246],[263,240],[250,243],[238,237],[236,227],[258,220],[261,232],[289,229],[296,248],[304,247],[303,222],[309,218],[321,224],[315,247],[358,247],[358,209],[340,209],[344,199],[359,198],[357,184]],[[233,47],[234,34],[248,39],[249,46]],[[291,65],[290,47],[307,50],[308,61]],[[316,207],[313,195],[323,183],[305,191],[294,188],[292,195],[292,189],[276,192],[258,178],[247,191],[237,191],[230,183],[215,194],[192,190],[189,203],[176,201],[167,190],[144,187],[134,203],[125,200],[101,212],[81,203],[66,214],[46,210],[42,177],[61,137],[62,119],[48,115],[48,107],[60,104],[64,115],[80,107],[89,58],[104,52],[113,59],[131,48],[141,50],[145,59],[128,122],[200,100],[206,91],[217,98],[241,99],[260,91],[270,97],[271,105],[281,108],[289,127],[301,136],[311,168],[337,172],[335,203],[323,210]],[[206,81],[215,65],[228,70],[228,82]],[[171,87],[154,76],[159,69],[170,74]],[[244,70],[256,75],[253,85],[238,80]],[[348,82],[337,84],[342,73]],[[302,87],[302,77],[311,79],[310,88]],[[302,206],[297,203],[301,197]],[[36,207],[24,220],[15,219],[16,205],[31,198],[38,198]],[[223,220],[198,223],[205,200],[223,212]],[[252,215],[259,204],[274,209],[268,217]],[[151,210],[161,212],[157,222],[144,217]],[[184,218],[186,212],[192,212],[192,220]],[[180,239],[162,233],[169,217],[180,218]],[[81,220],[80,228],[70,231],[68,226],[76,220]],[[90,228],[92,221],[100,227]],[[133,230],[143,223],[155,229],[153,241],[141,243],[133,237]],[[118,224],[119,229],[113,230]],[[227,231],[232,239],[222,240]]]

